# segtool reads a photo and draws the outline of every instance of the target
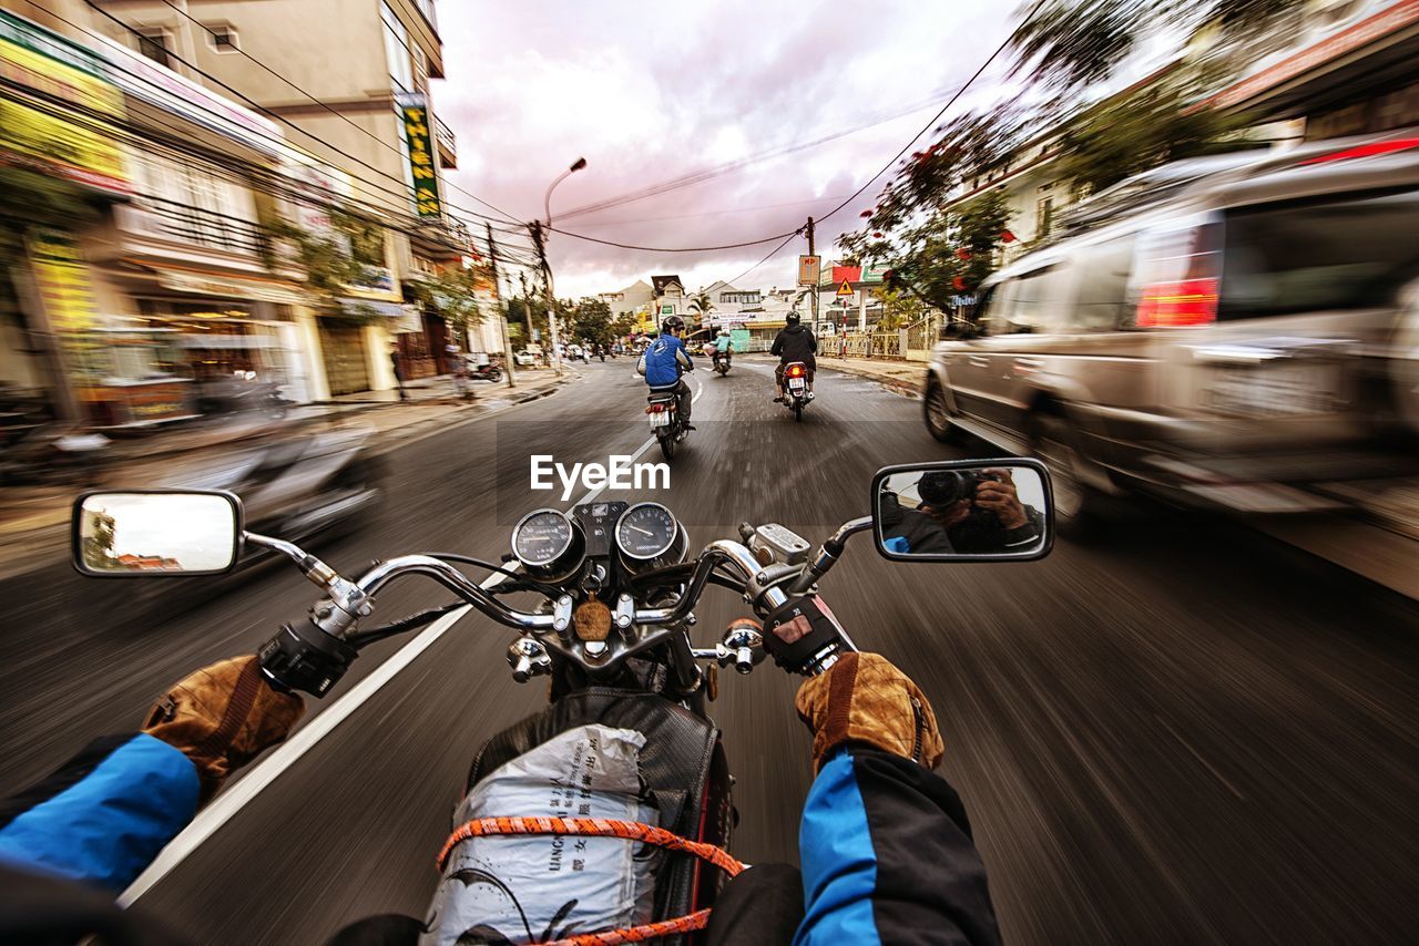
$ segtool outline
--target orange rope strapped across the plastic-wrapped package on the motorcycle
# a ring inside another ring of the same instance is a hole
[[[497,834],[570,834],[602,838],[624,838],[627,841],[641,841],[670,851],[692,854],[701,861],[708,861],[729,877],[744,871],[744,864],[736,861],[724,848],[700,841],[690,841],[678,834],[657,828],[640,821],[617,821],[613,818],[474,818],[467,821],[444,841],[438,852],[438,869],[443,871],[453,850],[468,838],[491,837]],[[684,916],[643,923],[626,929],[613,929],[604,933],[580,933],[568,939],[559,939],[546,946],[617,946],[619,943],[639,943],[657,936],[674,933],[692,933],[704,929],[710,922],[710,911],[695,911]]]

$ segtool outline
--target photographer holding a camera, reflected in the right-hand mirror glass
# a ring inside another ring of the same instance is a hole
[[[1026,552],[1044,535],[1044,515],[1020,499],[1015,475],[1006,467],[932,469],[900,486],[893,479],[884,484],[880,498],[883,536],[890,552]],[[911,494],[917,496],[915,508],[910,505]]]

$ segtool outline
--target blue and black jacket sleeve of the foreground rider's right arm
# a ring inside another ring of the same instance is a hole
[[[797,943],[998,943],[985,867],[961,798],[910,759],[830,756],[799,831]]]

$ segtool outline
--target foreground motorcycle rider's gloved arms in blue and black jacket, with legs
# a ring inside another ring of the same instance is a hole
[[[820,599],[803,600],[836,627]],[[813,627],[795,617],[773,637],[792,645]],[[932,773],[944,743],[925,695],[884,657],[853,652],[807,679],[795,703],[813,732],[816,770],[802,874],[765,864],[734,878],[704,942],[999,942],[965,808]],[[177,684],[138,735],[99,740],[0,801],[0,942],[182,943],[140,906],[121,911],[108,898],[302,712],[299,696],[267,684],[255,657],[223,661]],[[421,926],[375,916],[331,943],[414,946]]]

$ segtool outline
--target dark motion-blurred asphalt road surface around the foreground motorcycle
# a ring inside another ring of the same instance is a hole
[[[548,400],[392,454],[386,512],[326,560],[497,556],[518,515],[566,508],[529,492],[529,452],[604,462],[647,435],[630,363],[585,370]],[[744,519],[817,540],[867,512],[877,467],[962,455],[925,434],[918,404],[868,382],[822,373],[795,424],[769,379],[748,359],[695,376],[698,430],[653,496],[692,546]],[[253,650],[316,594],[274,569],[184,617],[112,628],[94,618],[95,596],[122,593],[112,584],[37,586],[0,635],[0,789],[133,725],[166,682]],[[701,642],[739,613],[714,594]],[[935,705],[1009,942],[1412,942],[1409,603],[1226,522],[1166,515],[1032,564],[901,566],[860,536],[824,597]],[[414,581],[379,611],[444,600]],[[545,699],[511,681],[507,642],[481,617],[455,625],[139,905],[201,943],[319,943],[359,916],[421,915],[470,757]],[[372,650],[342,692],[400,645]],[[722,677],[712,705],[738,777],[734,847],[751,862],[796,859],[810,766],[793,689],[766,665]]]

